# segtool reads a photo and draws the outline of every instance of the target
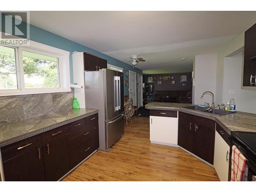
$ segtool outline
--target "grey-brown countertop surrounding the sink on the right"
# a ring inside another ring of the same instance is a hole
[[[213,119],[222,128],[230,134],[232,131],[243,131],[243,132],[256,132],[256,114],[236,112],[227,115],[214,115],[207,112],[190,110],[184,108],[184,106],[189,106],[192,104],[186,103],[159,103],[152,102],[145,105],[146,109],[149,110],[170,110],[170,111],[180,111],[192,115],[197,115],[200,117]]]

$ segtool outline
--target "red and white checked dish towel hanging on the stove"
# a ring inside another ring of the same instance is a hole
[[[245,173],[246,158],[236,146],[232,146],[230,181],[242,181]]]

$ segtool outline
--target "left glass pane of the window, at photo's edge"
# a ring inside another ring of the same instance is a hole
[[[17,89],[15,49],[0,46],[0,89]]]

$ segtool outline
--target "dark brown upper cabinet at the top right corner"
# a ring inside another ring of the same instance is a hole
[[[256,24],[245,31],[243,86],[256,86]]]

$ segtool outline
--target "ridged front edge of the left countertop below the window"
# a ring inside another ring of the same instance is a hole
[[[93,112],[89,112],[87,114],[79,115],[77,117],[74,117],[74,118],[71,118],[71,119],[68,119],[68,120],[64,120],[64,121],[60,121],[60,122],[52,124],[50,126],[42,127],[39,130],[35,130],[35,131],[32,131],[32,132],[26,133],[24,135],[20,135],[20,136],[11,138],[11,139],[7,139],[7,140],[4,140],[4,141],[1,141],[0,142],[0,147],[3,147],[3,146],[6,146],[6,145],[9,145],[9,144],[21,141],[23,139],[27,139],[29,137],[33,137],[35,135],[38,135],[38,134],[41,134],[41,133],[53,130],[53,129],[59,127],[59,126],[69,124],[71,122],[77,121],[77,120],[82,119],[82,118],[86,118],[88,116],[91,116],[91,115],[94,115],[94,114],[97,114],[97,113],[98,113],[98,110],[95,109],[95,111],[93,111]]]

